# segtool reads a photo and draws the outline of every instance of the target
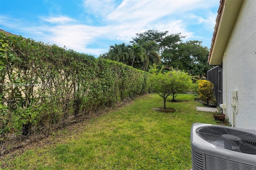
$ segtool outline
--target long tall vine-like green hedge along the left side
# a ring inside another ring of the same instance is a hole
[[[10,134],[49,135],[147,93],[149,76],[122,63],[0,32],[0,148]]]

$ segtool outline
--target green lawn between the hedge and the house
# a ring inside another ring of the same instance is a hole
[[[93,119],[85,128],[59,144],[27,150],[15,158],[5,158],[5,169],[168,169],[189,170],[192,123],[216,124],[194,95],[178,95],[166,107],[174,113],[160,113],[163,99],[149,94],[132,105]],[[0,163],[1,164],[1,163]]]

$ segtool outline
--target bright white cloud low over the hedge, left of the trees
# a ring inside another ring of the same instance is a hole
[[[36,32],[33,30],[36,30]],[[66,46],[68,49],[82,53],[90,53],[98,56],[98,51],[101,53],[107,51],[107,49],[102,51],[102,49],[88,48],[90,44],[95,42],[96,38],[104,37],[106,34],[104,28],[76,24],[30,27],[26,28],[26,31],[34,32],[34,40],[56,44],[60,47]]]

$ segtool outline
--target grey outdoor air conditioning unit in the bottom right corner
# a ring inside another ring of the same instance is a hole
[[[256,170],[256,130],[194,123],[193,170]]]

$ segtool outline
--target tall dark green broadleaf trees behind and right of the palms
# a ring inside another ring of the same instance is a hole
[[[209,49],[202,46],[202,42],[198,40],[183,42],[183,38],[185,36],[180,33],[170,34],[168,31],[148,30],[137,33],[130,42],[135,44],[154,42],[158,45],[156,50],[161,54],[161,61],[165,67],[178,68],[200,77],[206,76],[207,71],[212,68],[207,62]],[[160,63],[156,64],[159,65]]]

